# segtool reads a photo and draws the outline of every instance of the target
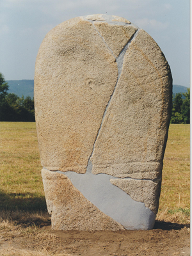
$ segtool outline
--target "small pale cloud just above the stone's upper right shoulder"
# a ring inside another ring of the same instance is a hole
[[[134,23],[139,26],[140,28],[147,29],[147,28],[154,28],[157,30],[166,29],[169,26],[168,22],[161,22],[155,19],[137,19]]]

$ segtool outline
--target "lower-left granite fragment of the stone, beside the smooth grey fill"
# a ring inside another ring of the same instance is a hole
[[[42,169],[45,199],[56,230],[124,230],[101,212],[70,182],[66,175]]]

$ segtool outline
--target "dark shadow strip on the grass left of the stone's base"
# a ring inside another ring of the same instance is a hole
[[[5,193],[0,190],[0,220],[13,221],[21,227],[51,226],[45,197],[35,193]]]

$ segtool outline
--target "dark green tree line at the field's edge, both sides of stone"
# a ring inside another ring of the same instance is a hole
[[[8,83],[0,73],[0,121],[35,122],[34,98],[8,93]],[[171,124],[190,124],[190,89],[176,93],[172,100]]]

